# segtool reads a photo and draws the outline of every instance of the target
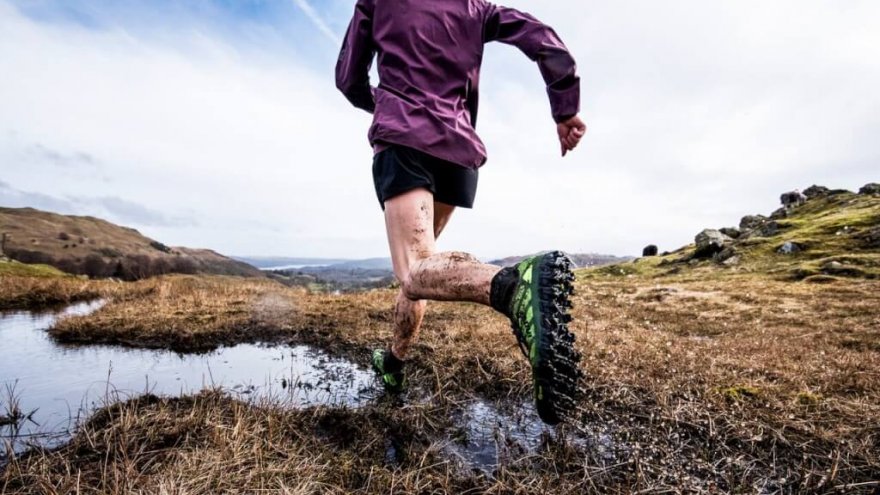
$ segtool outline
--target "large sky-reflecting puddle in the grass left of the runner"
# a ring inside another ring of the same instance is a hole
[[[46,333],[58,318],[103,303],[49,313],[0,313],[0,460],[13,452],[66,441],[79,418],[107,400],[146,392],[194,393],[217,387],[242,399],[358,407],[375,397],[373,375],[307,346],[242,344],[207,354],[58,344]],[[12,421],[14,418],[14,421]]]

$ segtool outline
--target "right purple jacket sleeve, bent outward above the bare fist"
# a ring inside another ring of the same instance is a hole
[[[563,122],[580,111],[580,78],[568,48],[553,29],[530,14],[487,3],[483,41],[519,48],[538,63],[547,84],[553,120]]]

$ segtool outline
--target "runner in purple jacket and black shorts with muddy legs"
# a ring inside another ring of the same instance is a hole
[[[567,328],[571,260],[553,251],[501,268],[467,253],[435,250],[455,208],[473,207],[486,162],[474,128],[483,45],[490,41],[514,45],[537,62],[565,156],[586,126],[577,116],[575,61],[551,28],[483,0],[357,0],[336,85],[354,106],[373,114],[373,181],[401,288],[393,341],[374,351],[372,362],[385,388],[399,392],[426,300],[491,306],[510,318],[531,364],[538,414],[556,424],[574,408],[581,377]],[[369,76],[374,57],[377,87]]]

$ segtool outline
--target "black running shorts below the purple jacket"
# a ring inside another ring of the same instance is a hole
[[[386,200],[419,187],[431,191],[434,201],[473,208],[478,175],[477,169],[397,144],[373,157],[373,184],[383,210]]]

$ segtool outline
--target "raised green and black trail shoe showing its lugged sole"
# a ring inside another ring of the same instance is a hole
[[[547,424],[562,421],[576,406],[583,372],[574,334],[568,330],[574,294],[573,263],[551,251],[527,258],[514,269],[518,277],[510,301],[513,333],[532,365],[535,406]]]

